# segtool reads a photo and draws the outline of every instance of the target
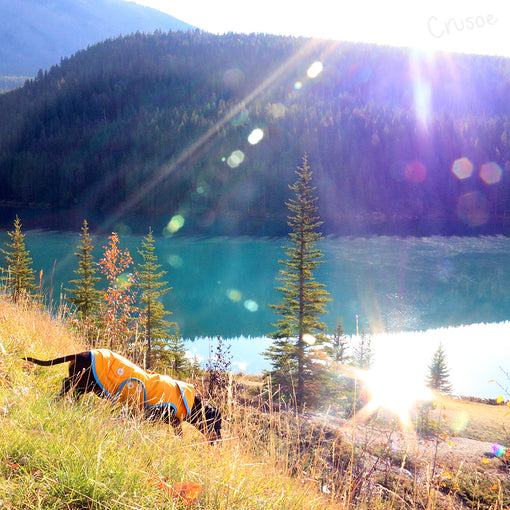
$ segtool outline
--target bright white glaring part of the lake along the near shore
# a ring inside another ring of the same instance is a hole
[[[439,343],[446,353],[453,393],[480,398],[510,398],[510,322],[378,333],[372,337],[372,368],[396,384],[418,387],[425,381],[428,366]],[[351,348],[358,338],[348,338]],[[271,345],[267,337],[234,338],[226,342],[235,372],[259,374],[269,368],[262,353]],[[191,358],[205,364],[215,338],[186,342]],[[397,377],[395,377],[397,374]]]

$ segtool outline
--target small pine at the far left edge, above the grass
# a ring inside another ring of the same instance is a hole
[[[25,247],[25,234],[21,232],[21,226],[21,221],[16,216],[14,231],[8,232],[11,242],[6,244],[7,250],[2,250],[7,266],[7,275],[3,279],[15,303],[22,297],[34,297],[31,293],[37,289],[34,283],[32,259]]]

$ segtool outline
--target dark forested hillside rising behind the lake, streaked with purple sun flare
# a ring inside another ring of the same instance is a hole
[[[503,58],[198,31],[108,40],[0,96],[2,219],[159,233],[180,215],[185,234],[281,234],[307,152],[326,233],[506,232],[509,98]]]

